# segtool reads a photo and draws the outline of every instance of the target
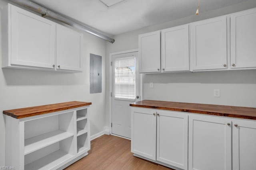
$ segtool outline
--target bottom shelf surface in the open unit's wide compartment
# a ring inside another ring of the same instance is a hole
[[[25,170],[50,170],[58,164],[72,158],[73,155],[64,152],[63,150],[57,150],[43,158],[40,158],[30,164],[25,165]]]

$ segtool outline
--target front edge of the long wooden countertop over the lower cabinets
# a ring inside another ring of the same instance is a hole
[[[234,117],[234,118],[241,118],[241,119],[256,120],[256,116],[229,114],[229,113],[219,113],[219,112],[202,111],[202,110],[196,110],[196,109],[195,110],[192,110],[192,109],[180,109],[180,108],[173,108],[173,107],[158,107],[158,106],[147,106],[147,105],[138,105],[138,104],[130,104],[130,106],[132,106],[132,107],[143,107],[143,108],[150,108],[150,109],[181,111],[181,112],[188,112],[188,113],[199,113],[199,114],[205,114],[205,115],[216,115],[216,116],[224,116],[224,117]]]

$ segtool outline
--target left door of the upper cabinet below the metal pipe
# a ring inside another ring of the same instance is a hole
[[[55,63],[55,23],[9,5],[10,63],[52,68]]]

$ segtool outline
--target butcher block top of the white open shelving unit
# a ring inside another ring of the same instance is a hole
[[[52,113],[55,111],[67,110],[76,107],[91,105],[90,102],[64,102],[58,104],[48,104],[44,106],[26,107],[22,109],[4,110],[3,114],[14,117],[16,119]]]

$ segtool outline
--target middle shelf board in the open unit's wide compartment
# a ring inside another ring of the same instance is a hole
[[[29,154],[38,149],[41,149],[48,145],[52,145],[53,143],[62,141],[63,139],[66,139],[66,138],[72,137],[72,136],[73,136],[72,133],[62,131],[62,130],[56,130],[56,131],[51,131],[51,132],[44,133],[44,134],[36,136],[36,137],[26,139],[24,141],[24,143],[25,143],[24,154],[25,155]]]

